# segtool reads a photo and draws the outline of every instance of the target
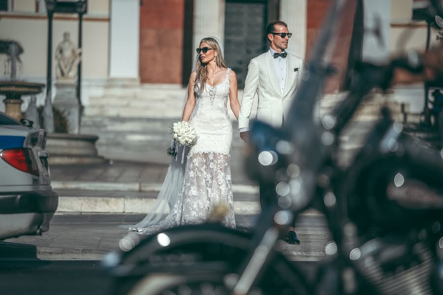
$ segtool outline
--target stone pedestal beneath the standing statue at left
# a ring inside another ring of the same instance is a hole
[[[67,133],[80,132],[80,109],[74,81],[58,81],[55,85],[56,96],[53,105],[66,120]]]

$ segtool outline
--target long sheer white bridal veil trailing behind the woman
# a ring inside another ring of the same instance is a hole
[[[212,38],[214,38],[217,43],[219,43],[221,52],[223,53],[223,47],[221,46],[220,40],[214,36],[212,36]],[[198,55],[196,55],[195,63],[192,67],[192,70],[195,70],[196,63],[198,62]],[[188,90],[189,84],[186,88],[185,98],[182,106],[182,113],[180,114],[180,117],[183,114],[186,101],[188,100]],[[165,145],[165,152],[166,148],[167,146]],[[150,226],[158,225],[159,222],[167,218],[168,213],[172,210],[175,203],[183,193],[185,167],[188,158],[188,152],[188,147],[178,146],[177,156],[175,158],[171,158],[171,163],[169,164],[166,176],[163,181],[163,185],[161,186],[153,208],[149,211],[149,213],[142,221],[134,226],[130,226],[130,229],[148,228]]]

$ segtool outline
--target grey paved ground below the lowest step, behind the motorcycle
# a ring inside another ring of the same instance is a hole
[[[41,236],[21,236],[0,241],[1,259],[92,259],[100,260],[109,251],[117,250],[119,240],[127,234],[121,225],[133,225],[142,214],[68,214],[57,213],[49,231]],[[253,228],[257,215],[236,215],[237,228]],[[278,242],[278,249],[293,261],[318,261],[331,239],[322,215],[311,212],[301,215],[297,234],[302,243]]]

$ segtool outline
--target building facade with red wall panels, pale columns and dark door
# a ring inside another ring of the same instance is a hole
[[[345,68],[355,34],[357,2],[347,2],[339,38],[342,46],[332,52],[333,61]],[[376,2],[387,13],[383,32],[387,34],[388,55],[397,50],[424,49],[426,23],[411,24],[412,8],[422,1]],[[186,85],[195,48],[201,38],[213,35],[221,40],[225,59],[237,72],[242,88],[250,59],[268,48],[264,31],[269,21],[285,21],[293,33],[288,51],[309,60],[330,3],[331,0],[88,0],[83,18],[82,102],[87,106],[109,85]],[[70,32],[72,40],[77,40],[77,22],[76,15],[55,15],[53,51],[63,32]],[[19,73],[22,79],[45,82],[47,26],[44,0],[1,1],[0,39],[16,40],[23,46]],[[403,42],[405,30],[410,36]],[[433,31],[433,43],[435,34]],[[5,61],[6,56],[0,55],[0,64]],[[343,76],[338,77],[328,91],[339,90],[343,81]],[[42,96],[38,101],[42,103]]]

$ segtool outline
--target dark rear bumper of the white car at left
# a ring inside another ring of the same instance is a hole
[[[54,191],[0,193],[0,239],[47,231],[58,204]]]

